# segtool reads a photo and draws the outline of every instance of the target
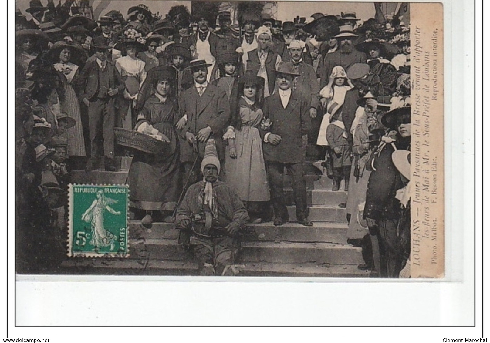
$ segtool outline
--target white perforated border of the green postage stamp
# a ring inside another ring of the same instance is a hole
[[[80,252],[73,253],[73,186],[88,186],[88,187],[114,187],[122,186],[127,189],[126,200],[126,252],[125,253],[104,253],[98,254],[95,252]],[[70,183],[68,184],[68,242],[67,242],[67,255],[68,257],[102,257],[102,258],[126,258],[129,257],[129,185],[127,184],[88,184],[88,183]]]

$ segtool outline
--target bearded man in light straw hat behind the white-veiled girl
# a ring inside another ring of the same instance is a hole
[[[335,66],[342,66],[347,70],[354,63],[366,63],[366,54],[354,48],[353,40],[356,37],[351,25],[340,26],[340,33],[335,36],[339,42],[337,50],[326,54],[322,66],[318,68],[320,89],[328,84],[328,77]]]

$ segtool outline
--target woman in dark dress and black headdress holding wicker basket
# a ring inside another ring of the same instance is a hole
[[[143,88],[147,86],[152,86],[153,93],[147,99],[140,99],[145,100],[145,105],[135,128],[149,124],[165,135],[169,143],[159,154],[137,151],[129,168],[129,205],[136,214],[145,214],[142,220],[145,225],[159,216],[164,221],[172,221],[180,191],[175,70],[171,66],[152,69]]]

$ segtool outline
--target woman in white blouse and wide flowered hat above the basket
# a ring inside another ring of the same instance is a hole
[[[136,116],[133,115],[133,108],[136,105],[140,87],[147,77],[146,64],[136,57],[136,54],[138,51],[145,50],[145,46],[139,42],[125,40],[116,44],[115,49],[123,53],[123,57],[116,59],[115,65],[126,83],[126,89],[123,92],[125,101],[120,108],[121,120],[116,126],[131,129],[136,119]]]

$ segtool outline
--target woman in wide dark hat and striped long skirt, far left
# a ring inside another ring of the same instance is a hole
[[[71,62],[74,60],[74,57],[82,53],[83,51],[80,51],[73,44],[59,41],[53,44],[48,54],[50,61],[53,62],[54,69],[62,73],[66,80],[63,83],[65,96],[63,101],[61,101],[60,110],[75,121],[75,125],[67,129],[67,135],[69,137],[67,150],[69,156],[85,156],[80,104],[72,87],[72,84],[76,84],[79,68],[77,64]]]

